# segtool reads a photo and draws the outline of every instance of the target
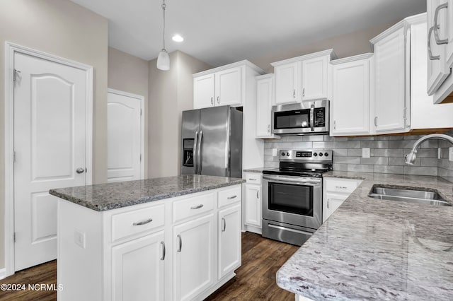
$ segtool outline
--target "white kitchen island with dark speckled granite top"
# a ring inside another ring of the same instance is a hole
[[[52,189],[58,300],[202,300],[241,266],[243,179],[182,175]]]

